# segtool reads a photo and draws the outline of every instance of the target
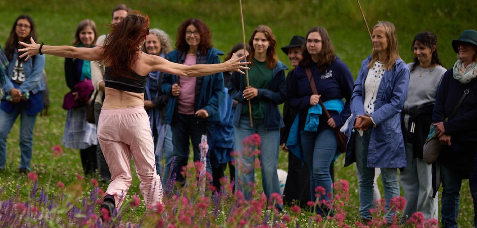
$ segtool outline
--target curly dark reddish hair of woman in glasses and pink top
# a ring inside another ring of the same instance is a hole
[[[207,50],[212,48],[212,32],[206,23],[200,19],[187,19],[177,29],[176,48],[180,54],[189,50],[189,45],[186,42],[186,29],[189,25],[194,25],[200,33],[200,42],[198,51],[201,55],[207,54]]]

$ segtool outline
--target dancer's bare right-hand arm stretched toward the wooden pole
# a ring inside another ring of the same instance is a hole
[[[178,63],[168,61],[159,56],[151,55],[151,60],[148,62],[148,65],[151,67],[151,71],[157,70],[161,72],[166,72],[172,75],[185,76],[185,77],[201,77],[211,74],[216,74],[224,71],[238,71],[244,73],[241,69],[249,69],[243,65],[250,64],[250,62],[240,62],[242,59],[245,59],[247,56],[242,56],[238,59],[235,59],[235,54],[232,58],[224,63],[216,64],[197,64],[193,66],[186,66]]]

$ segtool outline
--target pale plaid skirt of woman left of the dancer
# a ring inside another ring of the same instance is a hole
[[[86,122],[86,108],[68,110],[62,144],[66,148],[86,149],[98,145],[96,125]]]

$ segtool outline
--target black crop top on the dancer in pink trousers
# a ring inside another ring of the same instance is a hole
[[[119,89],[133,93],[144,93],[147,76],[141,76],[131,71],[129,75],[114,77],[111,74],[113,68],[106,67],[104,70],[104,87]]]

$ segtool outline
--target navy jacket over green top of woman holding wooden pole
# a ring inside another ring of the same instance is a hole
[[[285,124],[281,118],[280,109],[278,105],[285,102],[287,93],[287,81],[285,79],[285,69],[288,69],[280,61],[273,69],[273,78],[267,89],[258,89],[259,94],[254,99],[261,99],[265,102],[265,130],[277,130],[283,128]],[[239,101],[235,109],[234,126],[239,126],[240,117],[242,116],[242,109],[244,105],[248,105],[247,99],[243,98],[243,90],[245,85],[243,83],[243,74],[233,72],[228,86],[228,94],[232,99]]]

